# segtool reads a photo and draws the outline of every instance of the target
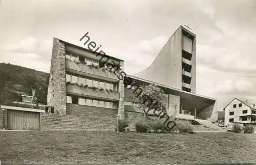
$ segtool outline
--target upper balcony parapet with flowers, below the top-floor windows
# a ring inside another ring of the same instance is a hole
[[[102,70],[101,68],[91,67],[86,64],[77,64],[68,59],[66,59],[66,70],[77,74],[81,74],[80,72],[82,72],[82,74],[85,76],[90,76],[98,79],[105,79],[113,82],[117,82],[119,80],[117,77],[118,74],[115,75],[114,72]]]

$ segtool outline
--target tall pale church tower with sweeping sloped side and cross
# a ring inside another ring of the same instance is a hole
[[[180,26],[151,66],[135,76],[196,93],[196,35]]]

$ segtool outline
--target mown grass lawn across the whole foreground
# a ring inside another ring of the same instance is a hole
[[[2,163],[256,163],[256,135],[0,131]]]

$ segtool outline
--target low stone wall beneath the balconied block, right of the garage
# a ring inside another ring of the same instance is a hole
[[[67,114],[40,114],[41,130],[116,128],[117,109],[67,104]]]

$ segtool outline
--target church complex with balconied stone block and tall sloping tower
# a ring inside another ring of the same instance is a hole
[[[123,60],[54,38],[48,88],[54,114],[41,115],[42,129],[113,129],[117,115],[134,124],[144,116],[134,90],[148,84],[164,91],[167,115],[217,121],[217,100],[196,94],[196,35],[182,26],[150,67],[135,75],[121,75],[123,69]]]

